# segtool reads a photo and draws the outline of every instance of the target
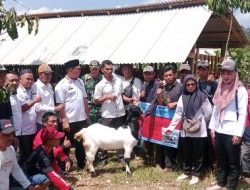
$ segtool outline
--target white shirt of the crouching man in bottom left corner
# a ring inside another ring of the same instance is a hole
[[[12,146],[7,147],[5,151],[0,151],[0,189],[9,189],[10,173],[24,189],[30,185],[29,180],[17,163],[16,153]]]

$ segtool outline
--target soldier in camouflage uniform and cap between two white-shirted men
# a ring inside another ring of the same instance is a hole
[[[96,60],[93,60],[89,64],[90,73],[82,77],[82,80],[85,84],[87,92],[87,100],[89,106],[89,124],[99,122],[101,118],[101,105],[94,104],[94,92],[96,84],[102,80],[102,75],[100,74],[100,63]]]

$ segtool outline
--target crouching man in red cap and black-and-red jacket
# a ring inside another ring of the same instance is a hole
[[[49,186],[56,189],[71,189],[69,184],[59,175],[60,169],[53,155],[54,147],[64,137],[63,132],[58,132],[54,127],[46,127],[41,132],[42,144],[31,154],[27,161],[27,174],[33,185]]]

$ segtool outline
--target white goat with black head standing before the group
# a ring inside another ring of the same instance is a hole
[[[76,140],[83,141],[87,158],[87,169],[90,171],[92,177],[96,175],[93,161],[98,149],[124,149],[126,172],[131,173],[129,161],[131,152],[138,142],[138,119],[140,115],[140,108],[138,106],[131,106],[127,114],[127,125],[115,129],[95,123],[75,134]]]

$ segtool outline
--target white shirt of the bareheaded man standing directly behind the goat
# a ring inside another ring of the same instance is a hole
[[[96,85],[94,99],[102,98],[105,95],[115,95],[115,101],[107,100],[102,103],[101,112],[103,118],[117,118],[125,115],[125,109],[122,100],[122,81],[113,75],[112,81],[105,77]]]

